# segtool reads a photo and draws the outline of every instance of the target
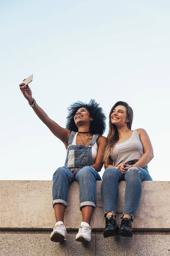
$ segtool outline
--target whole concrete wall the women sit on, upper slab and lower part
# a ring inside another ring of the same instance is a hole
[[[0,181],[0,256],[6,255],[149,255],[170,256],[170,182],[143,181],[142,197],[133,222],[132,238],[102,235],[105,223],[96,182],[96,209],[91,226],[90,244],[75,241],[82,221],[79,211],[79,185],[71,184],[65,225],[68,240],[54,243],[49,239],[55,224],[51,181]],[[119,184],[117,222],[122,215],[125,181]],[[75,231],[74,231],[75,230]]]

